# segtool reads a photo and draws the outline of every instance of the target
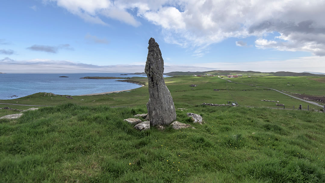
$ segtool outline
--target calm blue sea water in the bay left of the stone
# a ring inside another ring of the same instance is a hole
[[[80,79],[86,76],[147,77],[146,75],[120,75],[123,73],[7,73],[0,74],[0,99],[25,97],[38,92],[59,95],[84,95],[127,90],[141,85],[119,82],[117,79]],[[59,76],[68,76],[67,78]],[[119,79],[121,80],[121,79]],[[13,97],[14,95],[18,97]]]

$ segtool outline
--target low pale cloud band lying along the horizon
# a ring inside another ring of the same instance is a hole
[[[119,64],[99,66],[93,64],[84,64],[72,62],[69,60],[50,60],[50,59],[32,59],[32,60],[14,60],[8,57],[0,59],[0,72],[6,73],[85,73],[85,72],[120,72],[134,73],[144,72],[143,63]],[[9,64],[18,63],[18,64]],[[28,64],[28,65],[19,65]],[[35,65],[35,66],[29,66]],[[39,67],[40,66],[40,67]],[[47,67],[42,67],[47,66]],[[59,68],[57,68],[59,67]],[[95,71],[89,71],[95,70]],[[325,72],[325,57],[312,56],[288,60],[266,60],[257,62],[234,63],[234,62],[217,62],[217,63],[200,63],[173,65],[165,63],[164,72],[182,71],[211,71],[211,70],[240,70],[240,71],[259,71],[259,72]]]

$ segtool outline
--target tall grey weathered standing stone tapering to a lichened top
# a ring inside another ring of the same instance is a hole
[[[159,45],[150,38],[145,72],[149,83],[147,103],[149,121],[152,126],[168,125],[176,120],[173,98],[163,79],[163,59]]]

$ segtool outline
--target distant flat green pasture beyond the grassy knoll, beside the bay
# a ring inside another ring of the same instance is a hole
[[[265,78],[268,81],[269,87],[275,86],[276,82],[273,82],[273,78],[258,77],[253,81],[260,78]],[[233,78],[233,81],[243,81],[242,78]],[[238,79],[238,80],[237,80]],[[305,79],[307,80],[307,79]],[[135,82],[148,82],[147,78],[136,78]],[[307,80],[310,82],[317,82],[313,80]],[[304,108],[307,105],[311,108],[318,109],[317,106],[302,102],[297,99],[292,99],[289,96],[280,94],[275,91],[268,91],[264,88],[256,88],[251,86],[239,85],[229,83],[218,77],[168,77],[165,78],[165,83],[171,92],[175,103],[180,105],[199,105],[205,103],[226,104],[227,101],[237,101],[241,106],[253,106],[253,107],[277,107],[273,102],[262,102],[262,99],[279,100],[280,103],[285,104],[286,108],[292,108],[292,106],[299,106],[302,104]],[[189,85],[196,84],[197,87],[190,87]],[[228,90],[230,92],[230,95]],[[219,91],[214,91],[219,89]],[[324,88],[325,89],[325,88]],[[62,103],[75,103],[78,105],[86,106],[137,106],[144,105],[149,100],[148,86],[136,88],[131,92],[113,93],[107,95],[97,96],[72,96],[73,99],[68,99],[61,96],[49,96],[44,93],[37,93],[30,96],[12,99],[12,100],[0,100],[0,103],[17,103],[18,104],[32,104],[32,105],[50,105],[55,106]]]

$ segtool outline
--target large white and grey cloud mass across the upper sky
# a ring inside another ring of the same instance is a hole
[[[87,22],[108,25],[101,17],[140,26],[149,21],[162,30],[164,40],[206,48],[227,38],[256,36],[259,49],[307,51],[325,55],[325,1],[314,0],[43,0],[67,9]],[[280,36],[264,37],[277,32]],[[238,45],[242,45],[239,44]]]

